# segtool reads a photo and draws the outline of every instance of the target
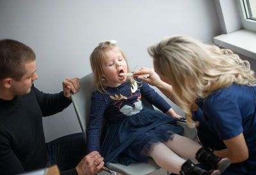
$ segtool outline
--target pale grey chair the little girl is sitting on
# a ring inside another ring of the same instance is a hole
[[[76,115],[83,132],[84,140],[86,141],[86,128],[90,118],[90,107],[91,107],[91,96],[93,91],[93,73],[90,73],[81,78],[81,87],[80,91],[76,94],[72,94],[72,102],[74,109],[76,110]],[[147,102],[145,99],[142,99],[143,105],[145,107],[152,108],[152,105]],[[104,122],[102,122],[104,125]],[[190,139],[195,140],[197,131],[195,128],[188,128],[186,123],[179,122],[182,127],[184,127],[184,136],[189,137]],[[102,127],[103,128],[103,127]],[[122,174],[149,174],[150,172],[157,171],[160,167],[149,158],[148,163],[135,163],[128,166],[118,164],[118,163],[108,163],[106,166],[116,172]]]

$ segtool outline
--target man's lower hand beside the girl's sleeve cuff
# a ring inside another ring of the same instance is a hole
[[[104,158],[97,151],[92,151],[79,162],[76,166],[76,171],[79,175],[92,175],[97,172],[102,172],[104,166]]]

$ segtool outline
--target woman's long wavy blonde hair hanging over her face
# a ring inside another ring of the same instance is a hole
[[[191,105],[212,91],[233,83],[256,86],[250,63],[231,50],[207,45],[188,36],[171,36],[148,47],[154,66],[173,86],[175,101],[186,113],[188,125],[195,125]]]

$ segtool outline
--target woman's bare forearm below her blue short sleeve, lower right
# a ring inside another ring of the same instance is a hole
[[[243,133],[240,133],[236,137],[223,142],[227,146],[227,149],[214,151],[214,155],[227,157],[231,160],[232,164],[243,162],[248,158],[249,152]]]

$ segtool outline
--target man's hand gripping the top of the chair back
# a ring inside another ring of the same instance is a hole
[[[71,92],[77,93],[80,89],[80,79],[66,79],[62,82],[64,96],[66,96],[69,100],[71,100]]]

